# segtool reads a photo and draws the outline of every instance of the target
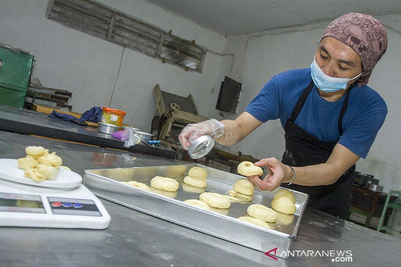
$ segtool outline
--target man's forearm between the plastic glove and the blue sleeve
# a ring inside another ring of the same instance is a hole
[[[226,126],[224,128],[224,134],[216,138],[215,141],[226,146],[240,142],[263,124],[263,122],[258,121],[248,112],[243,112],[235,120],[223,120],[221,122]]]

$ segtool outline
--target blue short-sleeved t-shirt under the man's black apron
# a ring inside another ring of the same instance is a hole
[[[303,90],[311,82],[310,69],[292,70],[274,76],[245,109],[257,120],[280,119],[284,127]],[[313,87],[295,123],[307,133],[325,142],[345,146],[366,158],[374,138],[383,125],[387,106],[380,95],[364,85],[352,88],[342,121],[343,134],[338,132],[338,118],[345,95],[329,102]]]

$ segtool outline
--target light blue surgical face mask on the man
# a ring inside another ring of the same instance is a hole
[[[315,83],[317,88],[319,88],[320,90],[322,90],[323,92],[326,92],[326,93],[344,90],[345,88],[347,88],[347,83],[350,80],[354,80],[354,79],[358,78],[363,73],[362,72],[359,75],[357,75],[351,79],[350,78],[330,77],[327,74],[325,74],[322,71],[322,69],[320,69],[320,67],[317,65],[317,63],[315,61],[315,57],[313,57],[313,62],[310,65],[310,69],[311,69],[311,76],[312,76],[313,82]]]

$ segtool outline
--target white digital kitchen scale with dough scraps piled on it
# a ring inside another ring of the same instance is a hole
[[[24,177],[17,159],[0,159],[0,226],[105,229],[110,215],[82,184],[60,168],[56,180]]]

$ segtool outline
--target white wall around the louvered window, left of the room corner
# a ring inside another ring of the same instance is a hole
[[[145,1],[99,2],[212,51],[223,51],[223,36]],[[47,20],[47,4],[47,0],[0,0],[0,42],[34,55],[32,77],[46,87],[72,92],[73,111],[108,106],[115,84],[110,107],[127,112],[124,123],[149,131],[155,108],[152,89],[159,84],[163,91],[192,94],[199,114],[207,116],[220,56],[208,53],[202,74],[186,72]]]

